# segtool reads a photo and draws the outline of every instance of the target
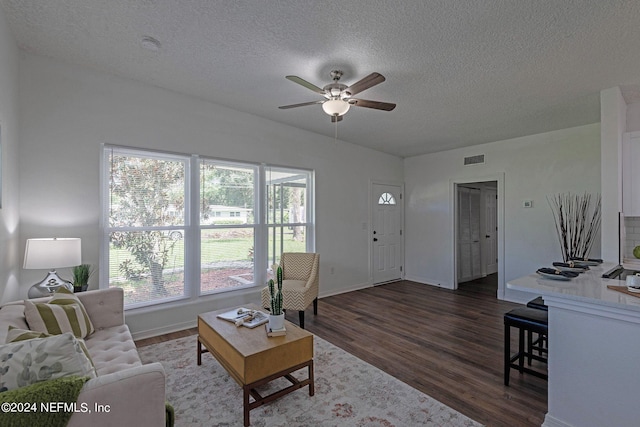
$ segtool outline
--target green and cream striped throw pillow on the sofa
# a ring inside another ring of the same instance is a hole
[[[59,288],[47,303],[25,300],[24,315],[32,331],[51,335],[71,332],[77,338],[95,331],[78,297],[66,288]]]

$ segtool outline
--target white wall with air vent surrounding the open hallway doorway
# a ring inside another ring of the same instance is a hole
[[[478,154],[485,155],[485,164],[463,166],[464,157]],[[453,287],[453,183],[495,178],[503,209],[501,292],[505,281],[562,260],[546,196],[600,192],[600,125],[405,159],[408,279]],[[524,200],[532,200],[533,207],[523,208]],[[599,242],[591,255],[600,255]],[[530,296],[507,290],[504,297]]]

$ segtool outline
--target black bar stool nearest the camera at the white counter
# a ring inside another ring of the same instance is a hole
[[[511,328],[518,328],[518,352],[511,355]],[[511,368],[517,369],[520,373],[526,372],[539,378],[547,379],[547,374],[524,366],[525,357],[531,364],[531,360],[538,360],[547,363],[547,358],[542,353],[547,354],[547,349],[534,347],[527,340],[525,345],[524,333],[536,333],[540,336],[547,336],[548,319],[545,310],[531,307],[518,307],[505,313],[504,315],[504,385],[509,385],[509,372]],[[534,354],[537,350],[539,354]],[[515,363],[517,361],[517,363]]]

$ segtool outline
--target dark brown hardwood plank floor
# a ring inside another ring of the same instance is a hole
[[[491,276],[456,291],[400,281],[322,298],[317,316],[307,309],[305,326],[487,426],[540,426],[547,382],[512,370],[510,386],[503,385],[502,316],[518,305],[496,299],[496,290]],[[297,323],[297,318],[287,313],[288,320]]]

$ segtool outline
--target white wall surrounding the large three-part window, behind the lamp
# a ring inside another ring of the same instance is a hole
[[[402,159],[40,56],[25,54],[20,72],[21,250],[30,237],[81,237],[83,262],[98,264],[100,144],[120,144],[314,169],[320,293],[370,285],[369,181],[401,182]],[[43,274],[22,270],[21,294]],[[127,322],[149,335],[257,295],[128,313]]]

